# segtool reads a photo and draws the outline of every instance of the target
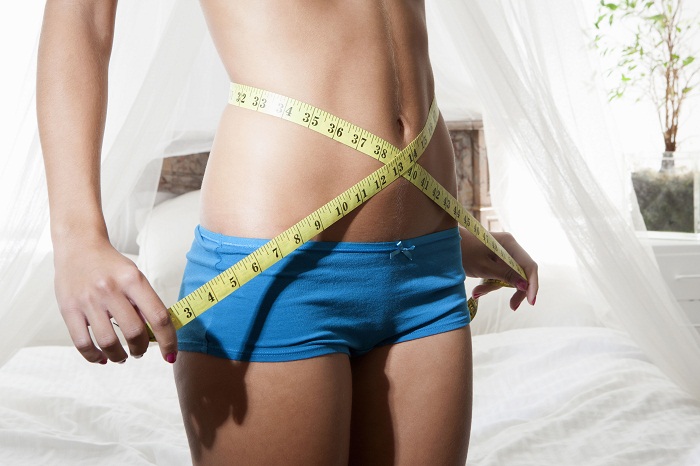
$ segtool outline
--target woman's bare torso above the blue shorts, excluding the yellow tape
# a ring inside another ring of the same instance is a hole
[[[308,102],[399,148],[422,129],[434,95],[422,0],[201,5],[231,81]],[[420,163],[456,194],[442,118]],[[380,166],[307,128],[228,105],[204,176],[200,222],[227,235],[270,238]],[[454,225],[399,179],[316,239],[388,241]]]

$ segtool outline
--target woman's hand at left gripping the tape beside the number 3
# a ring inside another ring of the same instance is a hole
[[[100,364],[108,359],[118,363],[127,359],[110,320],[114,318],[133,357],[143,356],[148,348],[147,321],[163,359],[175,362],[177,335],[165,305],[136,264],[114,249],[107,238],[56,248],[54,265],[61,315],[85,359]]]

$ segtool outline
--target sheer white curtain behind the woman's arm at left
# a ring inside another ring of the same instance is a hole
[[[0,14],[11,15],[13,8],[3,4]],[[217,70],[212,60],[202,69],[194,66],[200,55],[207,56],[200,53],[206,37],[197,2],[119,5],[102,152],[102,199],[110,238],[125,252],[134,252],[131,233],[153,203],[161,157],[182,137],[182,131],[176,131],[186,125],[182,116],[207,114],[216,121],[216,107],[197,106],[189,112],[182,105],[188,88],[201,88],[193,75],[206,78]],[[29,82],[18,101],[20,131],[15,139],[0,141],[0,186],[5,187],[0,203],[0,364],[27,344],[69,341],[53,294],[48,201],[36,128],[36,50],[29,68],[24,71]],[[226,91],[223,87],[219,93],[224,96],[221,108]],[[180,142],[183,153],[201,146],[201,137]]]

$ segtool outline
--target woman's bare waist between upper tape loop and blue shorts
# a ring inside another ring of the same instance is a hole
[[[383,132],[394,123],[385,122]],[[384,137],[375,128],[365,129]],[[386,139],[399,148],[406,145],[397,142],[397,133]],[[455,194],[454,153],[442,119],[420,164]],[[272,237],[381,166],[308,128],[229,105],[204,177],[200,223],[232,236]],[[393,241],[454,224],[419,189],[399,179],[315,239]]]

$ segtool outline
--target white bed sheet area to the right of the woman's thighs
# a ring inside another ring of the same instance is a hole
[[[700,402],[620,332],[481,335],[474,362],[469,464],[700,465]]]

